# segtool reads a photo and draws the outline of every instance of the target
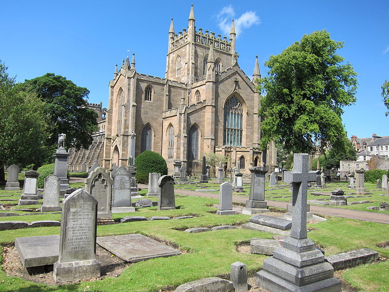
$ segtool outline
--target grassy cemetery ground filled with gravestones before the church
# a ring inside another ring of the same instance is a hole
[[[97,164],[64,194],[49,175],[40,197],[39,174],[11,167],[12,189],[0,189],[0,290],[388,291],[389,222],[313,212],[389,216],[387,189],[318,188],[306,157],[295,154],[281,181],[262,166],[246,177],[235,169],[241,183],[205,168],[200,178],[150,173],[137,186],[131,165]]]

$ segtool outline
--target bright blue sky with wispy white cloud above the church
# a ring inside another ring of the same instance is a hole
[[[358,73],[355,105],[346,107],[348,136],[388,136],[381,86],[389,79],[388,0],[304,1],[2,1],[0,59],[17,81],[60,74],[88,88],[89,102],[107,107],[115,64],[135,53],[139,73],[164,77],[170,19],[176,33],[188,25],[225,36],[236,19],[238,63],[251,77],[255,55],[261,73],[304,34],[326,29],[344,41],[338,53]]]

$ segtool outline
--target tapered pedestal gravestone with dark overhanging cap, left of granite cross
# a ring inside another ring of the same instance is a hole
[[[265,174],[267,170],[263,166],[250,167],[250,194],[243,208],[243,214],[252,215],[256,213],[269,212],[265,202]]]

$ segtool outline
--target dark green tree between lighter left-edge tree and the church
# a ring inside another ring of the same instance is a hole
[[[49,136],[46,145],[56,145],[58,134],[66,134],[66,146],[76,149],[88,148],[92,144],[91,134],[97,131],[97,114],[87,109],[89,91],[78,87],[61,75],[46,73],[20,85],[33,91],[45,102]]]

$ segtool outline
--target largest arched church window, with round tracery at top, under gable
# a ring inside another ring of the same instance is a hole
[[[224,106],[224,145],[242,146],[243,108],[235,95]]]

